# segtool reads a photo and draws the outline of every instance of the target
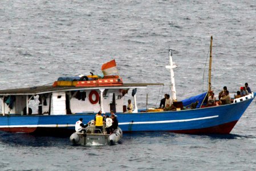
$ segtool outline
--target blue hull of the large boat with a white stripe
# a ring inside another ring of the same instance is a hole
[[[253,98],[254,99],[254,98]],[[117,113],[123,132],[169,131],[178,133],[230,133],[253,99],[217,107],[166,112]],[[0,130],[64,134],[74,132],[80,117],[84,123],[95,114],[0,116]]]

